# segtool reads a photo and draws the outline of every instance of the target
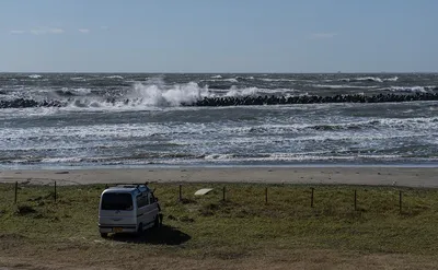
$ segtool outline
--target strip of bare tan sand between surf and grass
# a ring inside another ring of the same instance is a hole
[[[435,167],[186,167],[1,171],[1,183],[266,183],[438,187]]]

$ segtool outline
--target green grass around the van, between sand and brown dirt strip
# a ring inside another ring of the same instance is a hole
[[[177,200],[176,184],[150,186],[157,188],[165,227],[148,231],[140,240],[114,237],[105,242],[134,242],[149,251],[224,259],[266,249],[428,256],[438,251],[435,189],[313,186],[311,208],[310,186],[227,184],[227,201],[222,201],[222,184],[185,184],[182,202]],[[214,191],[195,197],[194,192],[203,187]],[[104,185],[58,187],[57,202],[53,189],[21,185],[15,206],[13,185],[0,185],[0,249],[20,243],[31,249],[62,249],[66,243],[89,248],[102,243],[97,204]],[[402,212],[399,190],[403,191]],[[122,248],[129,250],[131,246]]]

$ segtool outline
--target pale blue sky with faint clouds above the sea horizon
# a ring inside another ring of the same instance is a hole
[[[436,0],[1,0],[0,72],[437,72]]]

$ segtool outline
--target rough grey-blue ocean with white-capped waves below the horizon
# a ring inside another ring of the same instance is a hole
[[[425,93],[438,74],[0,73],[0,168],[436,166],[437,101],[196,105]]]

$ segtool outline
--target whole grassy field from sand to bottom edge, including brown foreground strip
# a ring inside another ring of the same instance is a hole
[[[151,184],[163,226],[102,239],[104,185],[0,185],[0,267],[27,269],[438,268],[438,190],[394,187]],[[214,191],[203,197],[204,187]],[[265,201],[265,188],[268,202]],[[357,206],[355,210],[355,190]],[[402,212],[400,212],[400,190]]]

